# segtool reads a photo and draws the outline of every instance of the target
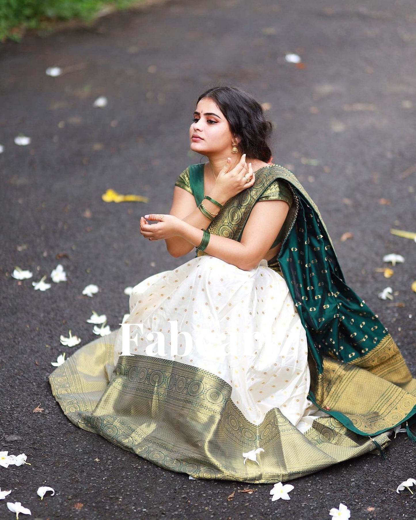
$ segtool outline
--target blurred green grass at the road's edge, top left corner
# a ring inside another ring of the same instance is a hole
[[[139,3],[140,0],[0,0],[0,41],[20,42],[28,29],[48,32],[53,31],[56,22],[93,22],[102,9],[122,10]]]

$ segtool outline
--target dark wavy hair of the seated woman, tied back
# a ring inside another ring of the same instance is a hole
[[[250,94],[238,87],[217,86],[203,92],[202,98],[212,99],[225,115],[231,132],[240,138],[237,148],[252,159],[269,162],[271,150],[268,140],[273,131],[273,125],[267,121],[263,107]]]

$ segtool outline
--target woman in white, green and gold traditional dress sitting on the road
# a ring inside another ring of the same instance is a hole
[[[74,424],[194,478],[276,483],[384,456],[402,422],[412,437],[416,380],[315,203],[270,163],[270,133],[242,90],[199,97],[190,146],[209,160],[179,175],[170,214],[140,219],[196,257],[138,283],[122,327],[49,378]]]

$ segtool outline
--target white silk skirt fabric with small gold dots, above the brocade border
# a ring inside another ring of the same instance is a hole
[[[308,399],[306,333],[284,278],[264,258],[250,271],[210,255],[138,283],[114,344],[211,372],[258,426],[272,408],[305,433],[328,414]],[[123,330],[122,330],[123,329]]]

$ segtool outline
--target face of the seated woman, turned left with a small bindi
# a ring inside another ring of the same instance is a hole
[[[202,98],[193,113],[193,118],[189,127],[191,150],[202,155],[231,153],[233,137],[230,126],[212,99]],[[192,138],[194,134],[200,138]]]

